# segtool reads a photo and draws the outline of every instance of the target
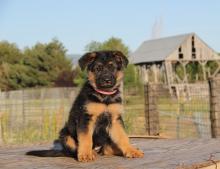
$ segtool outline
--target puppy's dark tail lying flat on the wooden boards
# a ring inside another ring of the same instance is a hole
[[[38,156],[38,157],[66,157],[68,154],[64,153],[63,151],[59,150],[35,150],[29,151],[26,155],[30,156]]]

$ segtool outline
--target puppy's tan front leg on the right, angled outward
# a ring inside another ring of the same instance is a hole
[[[124,128],[118,118],[113,118],[110,136],[113,142],[121,149],[123,155],[128,158],[143,157],[144,153],[134,148],[129,143],[129,138],[126,135]]]

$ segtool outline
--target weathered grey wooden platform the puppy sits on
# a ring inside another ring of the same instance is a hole
[[[192,169],[211,165],[217,168],[220,160],[220,140],[168,140],[132,139],[145,153],[142,159],[98,156],[90,163],[80,163],[72,158],[40,158],[24,155],[29,150],[48,149],[49,144],[0,147],[1,169]],[[212,168],[211,167],[211,168]],[[220,168],[220,166],[218,166]],[[210,167],[209,167],[210,168]],[[210,168],[210,169],[211,169]]]

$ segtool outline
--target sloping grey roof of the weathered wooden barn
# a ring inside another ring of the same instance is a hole
[[[131,54],[133,64],[163,61],[193,33],[144,41]]]

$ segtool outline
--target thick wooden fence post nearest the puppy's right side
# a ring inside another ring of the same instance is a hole
[[[145,124],[148,135],[159,135],[159,112],[157,110],[157,85],[147,83],[144,86]]]

